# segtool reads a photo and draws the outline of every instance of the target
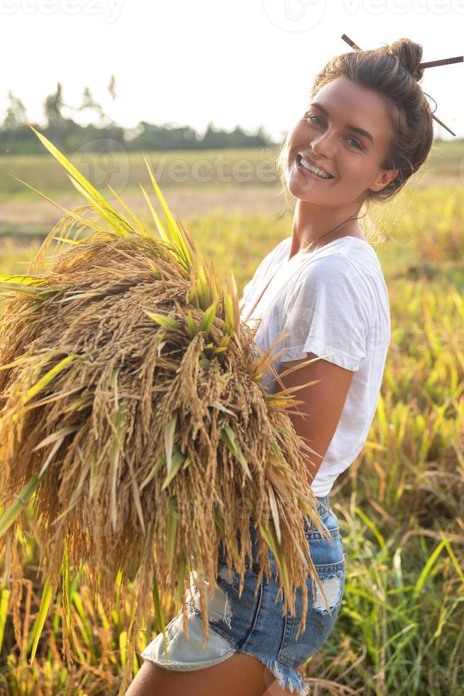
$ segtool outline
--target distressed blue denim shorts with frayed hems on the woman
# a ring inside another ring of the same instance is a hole
[[[309,694],[302,675],[297,668],[308,660],[321,647],[336,622],[345,589],[345,552],[338,529],[338,518],[330,508],[328,495],[316,499],[318,512],[331,535],[324,538],[313,523],[304,523],[304,532],[309,544],[311,558],[317,575],[321,580],[331,614],[316,582],[308,575],[308,609],[306,629],[296,638],[299,620],[302,616],[302,592],[297,591],[295,616],[289,611],[282,616],[282,596],[279,583],[275,580],[275,560],[269,550],[272,577],[263,577],[255,596],[260,565],[255,562],[256,530],[250,524],[253,560],[248,555],[245,569],[243,592],[238,596],[238,573],[228,568],[219,548],[218,577],[211,599],[208,599],[209,636],[201,648],[201,611],[197,592],[191,584],[191,594],[187,603],[188,634],[185,638],[182,629],[182,611],[166,626],[168,662],[165,659],[162,634],[158,634],[145,648],[141,656],[145,660],[169,670],[199,670],[217,665],[234,653],[248,653],[258,658],[275,676],[282,688],[301,696]],[[238,532],[238,542],[240,543]],[[195,571],[192,571],[195,573]],[[277,594],[279,598],[277,599]]]

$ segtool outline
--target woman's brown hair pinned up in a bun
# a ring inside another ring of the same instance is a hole
[[[397,195],[426,161],[431,150],[432,112],[426,94],[418,84],[424,75],[424,69],[419,68],[421,59],[422,46],[409,38],[400,38],[392,45],[337,55],[314,78],[311,99],[328,82],[346,77],[385,100],[390,114],[390,146],[381,166],[398,169],[399,173],[380,191],[370,192],[365,199],[368,207],[370,202],[386,201]],[[288,134],[276,160],[285,190],[287,146]]]

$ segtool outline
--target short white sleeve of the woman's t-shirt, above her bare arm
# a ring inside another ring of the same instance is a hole
[[[304,269],[285,303],[280,362],[324,356],[357,371],[366,356],[370,298],[360,272],[333,254]],[[330,355],[328,355],[330,353]]]

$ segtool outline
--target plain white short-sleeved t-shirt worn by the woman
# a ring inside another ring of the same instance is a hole
[[[278,268],[246,319],[257,329],[255,344],[268,350],[282,332],[289,332],[272,350],[274,355],[284,349],[273,363],[278,374],[285,369],[283,363],[307,358],[308,352],[355,373],[336,432],[311,484],[314,495],[322,497],[367,440],[391,339],[390,303],[380,261],[367,241],[343,236],[288,261],[291,247],[289,236],[261,261],[243,289],[241,320]],[[262,384],[269,392],[279,391],[272,379],[267,371]]]

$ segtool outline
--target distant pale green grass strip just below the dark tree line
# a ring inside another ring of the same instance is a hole
[[[226,187],[230,185],[276,185],[277,176],[272,163],[278,148],[241,148],[236,150],[199,150],[147,152],[153,173],[162,189],[201,185]],[[139,152],[64,153],[92,184],[103,192],[106,181],[125,192],[137,191],[145,181],[146,169]],[[418,177],[426,181],[437,177],[462,185],[464,177],[464,140],[436,141],[426,165]],[[0,202],[20,198],[36,200],[35,194],[11,178],[15,175],[46,191],[50,197],[73,191],[63,168],[43,155],[0,156]],[[106,189],[107,192],[107,189]]]

